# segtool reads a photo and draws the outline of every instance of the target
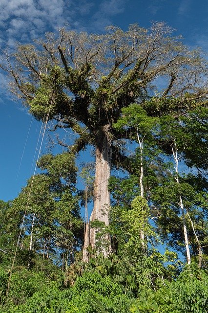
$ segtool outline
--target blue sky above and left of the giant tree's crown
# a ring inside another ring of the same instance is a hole
[[[64,23],[93,33],[110,24],[124,30],[134,22],[148,27],[150,21],[166,22],[185,44],[208,53],[208,0],[0,0],[0,47],[15,49],[17,42],[57,32]],[[9,93],[2,71],[0,116],[0,200],[7,201],[17,197],[33,174],[41,123]],[[47,131],[42,153],[49,152],[50,137]]]

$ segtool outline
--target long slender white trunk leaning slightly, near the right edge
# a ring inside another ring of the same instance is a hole
[[[175,140],[174,140],[175,142]],[[183,228],[184,228],[184,241],[185,241],[185,246],[186,246],[186,252],[187,252],[187,264],[190,264],[191,258],[190,258],[190,250],[189,250],[189,245],[188,245],[188,236],[187,236],[187,223],[186,223],[186,218],[185,218],[185,209],[184,209],[184,204],[181,196],[181,191],[180,191],[180,183],[179,183],[179,178],[178,178],[178,161],[180,159],[180,156],[178,156],[177,153],[177,145],[175,142],[175,149],[172,147],[172,154],[175,160],[175,172],[176,172],[176,182],[178,183],[179,186],[179,205],[181,208],[181,216],[182,216],[182,221],[183,221]]]

